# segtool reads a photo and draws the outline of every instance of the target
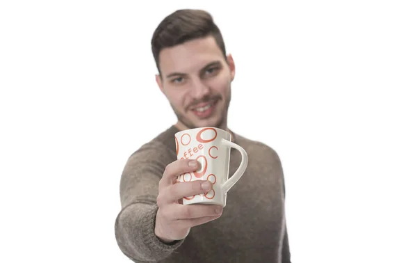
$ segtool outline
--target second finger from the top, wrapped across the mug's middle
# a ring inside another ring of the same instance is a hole
[[[192,182],[181,182],[172,184],[162,193],[165,202],[176,202],[177,200],[187,197],[199,195],[200,193],[208,193],[213,188],[208,180],[196,180]]]

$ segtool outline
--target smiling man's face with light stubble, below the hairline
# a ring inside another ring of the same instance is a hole
[[[183,129],[227,128],[234,61],[224,59],[213,37],[163,49],[159,67],[156,81]]]

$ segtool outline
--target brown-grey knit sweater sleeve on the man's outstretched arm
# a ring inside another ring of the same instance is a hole
[[[154,232],[158,184],[170,155],[164,145],[148,143],[131,155],[120,180],[122,209],[115,220],[115,238],[133,262],[157,262],[169,256],[183,240],[165,244]]]

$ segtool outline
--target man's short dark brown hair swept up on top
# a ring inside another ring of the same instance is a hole
[[[226,58],[226,48],[220,29],[210,13],[204,10],[181,9],[165,17],[152,35],[152,54],[159,69],[159,54],[165,47],[180,45],[188,40],[213,35]]]

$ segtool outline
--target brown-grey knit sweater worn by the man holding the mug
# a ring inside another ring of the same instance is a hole
[[[133,262],[291,262],[285,223],[285,186],[281,161],[272,148],[233,134],[249,163],[227,193],[220,218],[191,228],[188,237],[164,244],[154,232],[158,182],[165,166],[177,160],[172,126],[142,145],[126,162],[120,181],[122,209],[115,238]],[[240,152],[231,149],[232,175]]]

